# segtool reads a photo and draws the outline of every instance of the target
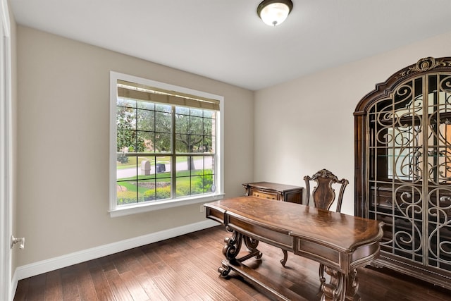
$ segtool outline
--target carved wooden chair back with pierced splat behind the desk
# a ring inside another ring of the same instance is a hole
[[[343,200],[343,193],[349,181],[346,179],[338,180],[338,178],[328,171],[327,169],[321,169],[315,173],[312,177],[304,176],[305,187],[307,190],[306,202],[304,204],[309,205],[310,202],[310,183],[315,182],[316,186],[311,192],[313,203],[316,208],[329,210],[333,202],[336,201],[335,211],[340,212],[341,204]],[[340,192],[338,197],[335,198],[335,190],[333,184],[340,185]]]

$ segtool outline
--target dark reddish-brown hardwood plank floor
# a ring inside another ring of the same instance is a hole
[[[226,236],[218,226],[26,278],[14,300],[270,300],[233,272],[219,276]],[[249,259],[249,266],[299,300],[319,300],[319,264],[288,254],[283,268],[280,249],[260,243],[259,250],[261,262]],[[451,300],[450,290],[383,271],[358,269],[362,300]]]

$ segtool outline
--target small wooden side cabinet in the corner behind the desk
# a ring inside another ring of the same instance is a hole
[[[245,183],[245,195],[302,204],[302,187],[269,182]]]

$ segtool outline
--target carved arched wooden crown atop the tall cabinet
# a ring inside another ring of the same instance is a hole
[[[416,63],[402,68],[385,80],[376,84],[373,91],[366,94],[357,104],[354,111],[354,116],[365,115],[368,108],[379,99],[388,97],[400,83],[405,80],[416,78],[419,75],[426,75],[429,73],[451,72],[451,57],[434,59],[427,57],[420,59]]]

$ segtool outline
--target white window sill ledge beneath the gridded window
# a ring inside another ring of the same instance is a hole
[[[164,200],[160,202],[146,202],[141,204],[133,204],[133,205],[125,205],[118,207],[116,209],[110,210],[110,217],[118,217],[125,216],[130,214],[140,214],[148,211],[156,211],[161,209],[175,208],[190,204],[198,204],[198,203],[206,203],[218,201],[219,199],[223,199],[224,194],[217,195],[208,195],[204,197],[196,197],[196,198],[180,198],[180,199],[170,199]]]

